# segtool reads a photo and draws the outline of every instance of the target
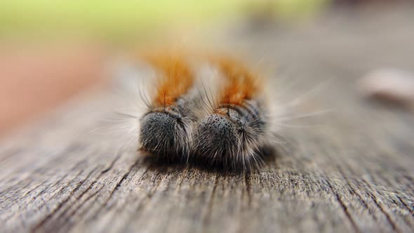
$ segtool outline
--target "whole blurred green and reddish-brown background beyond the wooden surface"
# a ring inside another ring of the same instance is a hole
[[[316,28],[312,26],[316,22],[326,23],[338,15],[352,22],[349,27],[358,27],[355,18],[399,15],[407,9],[413,9],[413,1],[3,0],[0,137],[40,119],[79,93],[105,87],[108,62],[119,53],[161,44],[203,44],[218,32],[227,39],[258,34],[272,40],[293,29]],[[387,22],[385,18],[368,27],[380,28]],[[269,31],[277,33],[264,33]],[[227,44],[232,42],[229,39]]]

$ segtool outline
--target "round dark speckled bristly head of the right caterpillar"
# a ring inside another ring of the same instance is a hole
[[[254,138],[258,131],[232,108],[220,108],[201,120],[194,136],[197,156],[213,166],[249,169],[257,158]]]

